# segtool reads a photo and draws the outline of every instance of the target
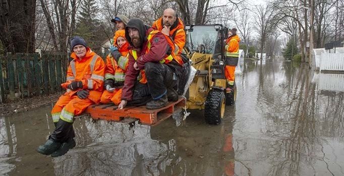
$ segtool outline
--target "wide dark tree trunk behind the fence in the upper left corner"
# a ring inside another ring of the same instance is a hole
[[[0,40],[4,52],[35,51],[35,0],[0,0]]]

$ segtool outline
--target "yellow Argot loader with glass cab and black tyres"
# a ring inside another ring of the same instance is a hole
[[[234,105],[236,87],[226,92],[225,39],[222,25],[186,25],[186,52],[197,70],[188,91],[188,109],[204,109],[209,124],[219,124],[226,105]]]

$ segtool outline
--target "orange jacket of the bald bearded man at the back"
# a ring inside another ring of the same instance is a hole
[[[175,54],[180,55],[185,46],[186,33],[184,30],[183,21],[179,17],[177,17],[177,20],[175,23],[177,23],[177,25],[176,27],[174,27],[175,24],[172,25],[171,27],[172,29],[169,30],[169,36],[173,39],[175,43],[175,50],[174,50]],[[152,28],[158,31],[161,31],[163,29],[162,17],[153,23]]]

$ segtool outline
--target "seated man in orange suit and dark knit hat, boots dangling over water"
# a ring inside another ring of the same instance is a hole
[[[75,146],[73,118],[80,115],[92,104],[97,104],[103,91],[105,63],[103,59],[87,47],[83,38],[71,39],[73,50],[67,71],[67,82],[61,86],[67,90],[51,111],[55,130],[45,144],[36,150],[52,157],[61,156]]]

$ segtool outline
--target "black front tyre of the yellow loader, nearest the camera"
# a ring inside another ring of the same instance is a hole
[[[224,116],[225,109],[225,95],[224,92],[217,89],[209,91],[204,106],[205,122],[208,124],[218,125]]]

